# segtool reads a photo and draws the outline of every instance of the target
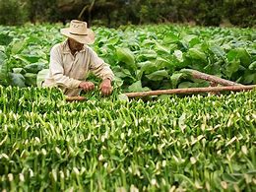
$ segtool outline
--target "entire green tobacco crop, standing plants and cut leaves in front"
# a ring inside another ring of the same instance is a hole
[[[255,84],[253,29],[95,29],[93,47],[111,65],[115,91],[66,102],[36,87],[50,47],[65,39],[60,28],[0,27],[1,191],[256,191],[255,90],[119,95],[209,86],[184,68]]]

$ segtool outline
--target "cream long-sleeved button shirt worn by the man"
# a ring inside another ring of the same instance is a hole
[[[109,65],[91,47],[85,44],[73,55],[66,40],[51,48],[49,74],[43,87],[59,87],[66,96],[78,96],[79,84],[86,80],[90,71],[102,80],[114,78]]]

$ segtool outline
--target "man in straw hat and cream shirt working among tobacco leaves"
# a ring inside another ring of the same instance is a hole
[[[68,39],[51,48],[49,74],[42,86],[59,87],[66,96],[79,96],[82,90],[95,89],[92,82],[86,81],[91,71],[102,80],[99,86],[101,94],[110,95],[114,75],[109,65],[88,46],[95,42],[95,33],[87,28],[86,22],[78,20],[72,20],[70,28],[60,32]]]

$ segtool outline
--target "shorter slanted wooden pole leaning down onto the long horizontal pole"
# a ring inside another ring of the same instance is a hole
[[[219,77],[216,77],[213,75],[208,75],[206,73],[202,73],[200,71],[193,70],[193,69],[182,69],[180,71],[191,75],[195,79],[201,79],[201,80],[206,80],[209,82],[215,82],[215,83],[221,84],[223,86],[242,86],[241,84],[237,84],[235,82],[224,80],[222,78],[219,78]]]

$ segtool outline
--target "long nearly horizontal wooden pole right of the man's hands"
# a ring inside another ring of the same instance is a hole
[[[248,91],[256,88],[256,85],[251,86],[227,86],[227,87],[208,87],[208,88],[184,88],[184,89],[172,89],[172,90],[159,90],[150,92],[139,93],[127,93],[128,97],[135,96],[160,96],[160,95],[172,95],[172,94],[194,94],[194,93],[209,93],[209,92],[222,92],[222,91]]]

